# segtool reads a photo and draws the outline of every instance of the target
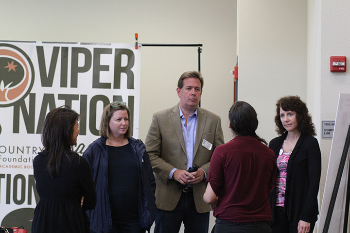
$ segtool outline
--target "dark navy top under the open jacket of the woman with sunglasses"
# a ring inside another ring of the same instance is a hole
[[[108,148],[108,193],[112,222],[139,222],[137,160],[130,144]]]

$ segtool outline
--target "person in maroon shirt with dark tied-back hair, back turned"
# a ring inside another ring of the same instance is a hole
[[[233,139],[214,150],[203,196],[216,217],[212,232],[271,233],[274,152],[255,133],[257,113],[250,104],[234,103],[228,117]]]

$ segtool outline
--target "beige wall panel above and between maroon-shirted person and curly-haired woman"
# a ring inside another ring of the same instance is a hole
[[[258,113],[258,135],[277,136],[276,101],[298,95],[306,101],[307,2],[238,0],[239,100]]]

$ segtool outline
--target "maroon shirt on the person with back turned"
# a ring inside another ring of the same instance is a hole
[[[274,152],[251,136],[215,148],[207,182],[218,196],[213,215],[231,222],[270,221],[268,194],[276,178]]]

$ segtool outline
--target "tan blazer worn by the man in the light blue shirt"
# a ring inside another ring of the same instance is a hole
[[[212,144],[211,150],[202,146],[203,139]],[[224,136],[220,117],[198,108],[192,164],[204,169],[208,175],[211,154],[221,144],[224,144]],[[156,178],[157,208],[172,211],[181,197],[183,188],[174,179],[168,179],[169,173],[174,167],[187,169],[186,147],[178,104],[153,115],[145,145]],[[193,197],[198,213],[210,211],[209,205],[203,201],[205,189],[205,180],[193,184]]]

